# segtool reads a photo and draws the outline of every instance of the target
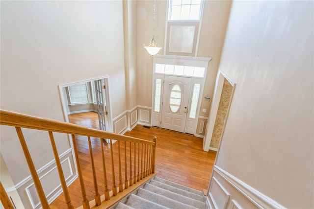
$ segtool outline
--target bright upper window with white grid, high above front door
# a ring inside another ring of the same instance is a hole
[[[202,0],[170,0],[168,20],[200,20]]]

